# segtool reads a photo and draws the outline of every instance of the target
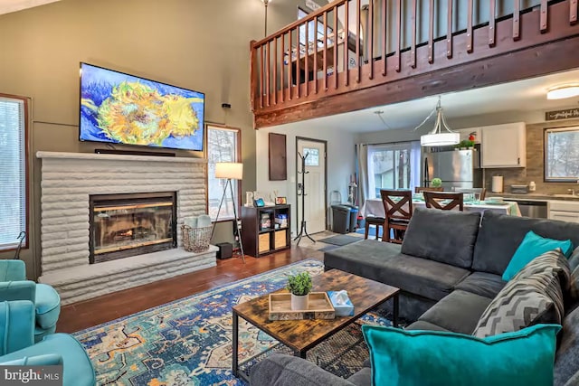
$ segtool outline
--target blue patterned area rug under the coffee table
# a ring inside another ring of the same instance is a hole
[[[323,271],[307,259],[283,268],[97,325],[74,336],[89,353],[100,385],[244,385],[233,377],[232,306],[284,287],[289,275]],[[380,315],[360,323],[390,325]],[[256,327],[240,319],[240,362],[271,352],[289,353]],[[359,323],[349,325],[308,352],[308,360],[343,377],[356,372],[368,353]]]

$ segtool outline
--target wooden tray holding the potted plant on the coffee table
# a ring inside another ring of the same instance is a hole
[[[270,320],[334,319],[336,312],[326,292],[310,292],[307,310],[291,309],[291,294],[270,294]]]

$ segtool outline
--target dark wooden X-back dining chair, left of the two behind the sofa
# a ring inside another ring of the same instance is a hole
[[[413,193],[382,189],[380,196],[385,213],[382,240],[402,244],[404,231],[408,229],[408,223],[413,216]],[[394,238],[390,237],[390,230],[393,230]]]

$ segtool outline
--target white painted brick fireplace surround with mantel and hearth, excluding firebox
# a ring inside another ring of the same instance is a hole
[[[39,281],[56,288],[62,304],[214,267],[212,246],[183,249],[183,218],[205,212],[205,165],[200,158],[38,152],[42,159]],[[175,191],[177,248],[89,262],[89,195]]]

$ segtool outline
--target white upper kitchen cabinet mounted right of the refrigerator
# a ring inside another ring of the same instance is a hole
[[[527,132],[525,122],[481,127],[481,167],[525,167]]]

